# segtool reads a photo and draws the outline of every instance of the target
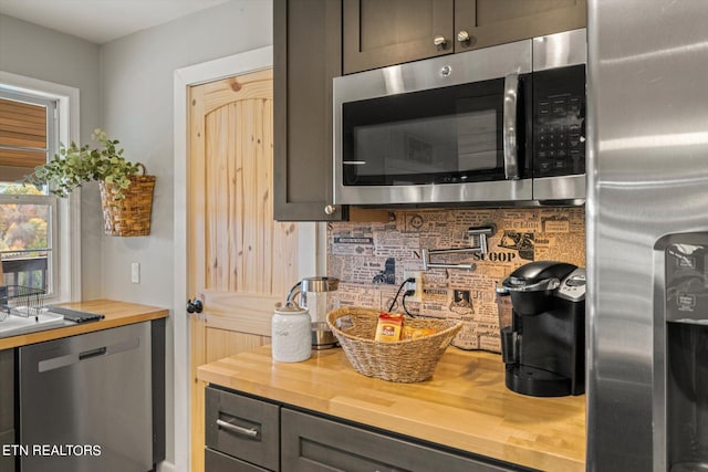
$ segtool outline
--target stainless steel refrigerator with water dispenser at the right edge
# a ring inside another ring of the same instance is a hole
[[[587,470],[708,470],[708,1],[587,35]]]

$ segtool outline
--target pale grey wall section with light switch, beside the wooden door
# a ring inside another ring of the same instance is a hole
[[[125,156],[157,176],[152,233],[103,237],[102,293],[173,308],[167,342],[167,457],[174,458],[173,304],[173,125],[176,69],[272,44],[271,0],[232,0],[184,19],[112,41],[101,48],[103,126],[121,140]],[[131,283],[131,263],[140,264],[140,283]],[[186,304],[186,301],[185,301]]]

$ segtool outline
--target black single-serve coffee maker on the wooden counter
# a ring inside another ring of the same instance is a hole
[[[584,394],[585,270],[565,262],[531,262],[513,271],[497,292],[507,387],[533,397]],[[504,313],[504,297],[511,298],[510,314]]]

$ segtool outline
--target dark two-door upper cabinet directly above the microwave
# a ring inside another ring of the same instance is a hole
[[[586,0],[343,0],[345,74],[584,28]]]

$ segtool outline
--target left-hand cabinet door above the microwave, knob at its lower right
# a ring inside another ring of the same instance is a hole
[[[454,0],[343,0],[344,73],[452,52]],[[436,38],[445,42],[436,45]]]

